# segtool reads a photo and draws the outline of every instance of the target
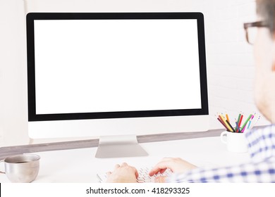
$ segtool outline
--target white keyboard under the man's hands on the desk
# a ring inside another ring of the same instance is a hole
[[[163,174],[154,174],[154,176],[150,177],[149,176],[149,171],[151,168],[149,167],[142,167],[138,169],[138,179],[137,183],[154,183],[154,179],[156,177],[166,177],[169,176],[172,172],[171,170],[167,169]],[[106,174],[97,174],[97,178],[99,179],[99,182],[104,183],[106,182]]]

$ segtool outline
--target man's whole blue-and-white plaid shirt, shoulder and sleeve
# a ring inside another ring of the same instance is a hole
[[[275,182],[275,125],[251,129],[245,134],[250,163],[242,165],[197,168],[173,174],[167,182]]]

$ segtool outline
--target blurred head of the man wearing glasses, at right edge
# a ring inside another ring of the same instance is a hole
[[[256,63],[255,101],[259,111],[275,123],[275,0],[257,0],[259,21],[254,52]]]

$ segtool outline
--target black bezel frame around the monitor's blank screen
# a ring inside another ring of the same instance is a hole
[[[142,110],[102,113],[37,114],[35,101],[35,20],[119,20],[119,19],[196,19],[200,58],[200,109]],[[162,117],[181,115],[209,115],[207,98],[207,68],[204,40],[204,16],[202,13],[28,13],[27,14],[27,96],[28,120],[85,120],[122,117]]]

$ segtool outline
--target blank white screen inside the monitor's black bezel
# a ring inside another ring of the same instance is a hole
[[[197,20],[35,20],[36,113],[201,108]]]

